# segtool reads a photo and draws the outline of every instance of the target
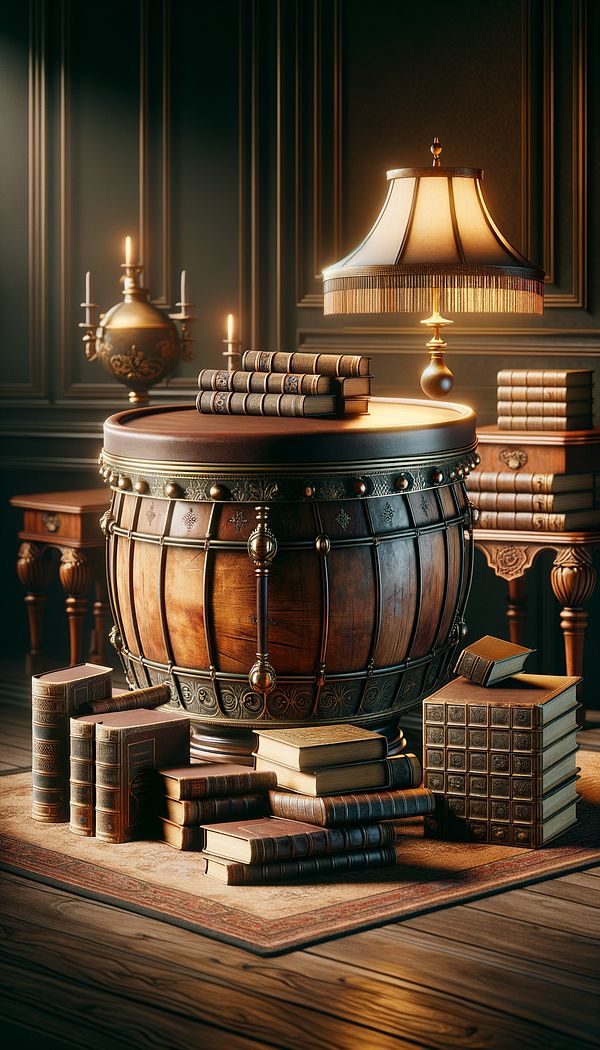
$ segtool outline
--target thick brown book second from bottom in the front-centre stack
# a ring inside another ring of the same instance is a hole
[[[225,860],[265,864],[351,849],[374,849],[393,845],[401,824],[393,820],[355,827],[317,827],[299,820],[264,817],[225,824],[207,824],[204,848]]]

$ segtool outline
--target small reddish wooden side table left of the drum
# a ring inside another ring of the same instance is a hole
[[[24,510],[17,573],[25,588],[30,655],[40,652],[46,591],[53,573],[50,551],[60,551],[59,579],[66,593],[70,664],[83,659],[83,632],[88,595],[94,589],[94,630],[89,659],[104,663],[104,629],[108,616],[104,572],[104,536],[100,516],[108,508],[104,489],[36,492],[14,496]]]

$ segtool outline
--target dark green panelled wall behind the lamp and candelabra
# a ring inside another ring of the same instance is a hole
[[[192,396],[223,350],[352,349],[376,393],[418,396],[417,320],[324,318],[320,268],[369,228],[390,167],[485,169],[491,211],[549,273],[542,319],[456,317],[455,397],[494,419],[499,366],[595,368],[600,5],[586,0],[4,0],[0,5],[2,491],[96,480],[101,422],[125,392],[83,356],[90,269],[118,298],[123,237],[152,294],[189,273],[195,357],[157,400]],[[17,514],[2,517],[5,637],[24,638]],[[532,644],[560,667],[547,566]],[[503,585],[477,560],[472,621],[501,631]],[[598,602],[591,631],[598,632]],[[592,648],[592,647],[589,647]]]

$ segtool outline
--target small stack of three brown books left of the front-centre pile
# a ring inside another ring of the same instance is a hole
[[[175,849],[202,849],[204,824],[242,821],[269,812],[267,792],[274,773],[233,762],[161,768],[153,776],[153,813],[159,836]]]

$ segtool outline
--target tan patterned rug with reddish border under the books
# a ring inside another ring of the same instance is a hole
[[[543,849],[451,844],[407,824],[399,867],[273,886],[225,886],[198,854],[162,842],[110,845],[30,819],[30,774],[0,778],[0,865],[261,956],[600,864],[600,754],[582,751],[579,823]],[[556,844],[555,844],[556,843]]]

